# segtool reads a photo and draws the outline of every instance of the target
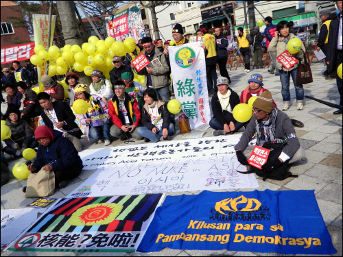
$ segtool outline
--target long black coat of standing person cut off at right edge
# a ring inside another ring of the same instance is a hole
[[[327,42],[327,58],[329,65],[327,66],[327,72],[330,74],[333,71],[336,71],[339,63],[337,63],[337,40],[338,40],[338,31],[340,29],[340,15],[341,13],[336,14],[330,23],[329,28],[329,39]]]

